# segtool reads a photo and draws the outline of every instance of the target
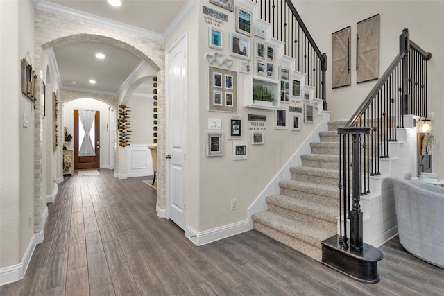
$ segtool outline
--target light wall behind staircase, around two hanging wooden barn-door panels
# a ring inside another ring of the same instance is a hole
[[[302,20],[321,52],[327,53],[327,102],[332,112],[332,119],[348,119],[364,100],[375,81],[356,83],[356,24],[358,21],[379,13],[380,24],[380,62],[379,76],[384,73],[399,52],[399,35],[408,28],[411,40],[432,53],[429,61],[427,91],[429,112],[434,112],[432,122],[436,150],[444,145],[444,46],[443,38],[436,37],[436,32],[444,26],[444,1],[307,1],[293,0]],[[326,24],[328,24],[326,26]],[[352,83],[348,87],[332,89],[332,33],[347,26],[352,28],[351,61]],[[444,175],[444,155],[435,153],[433,170]]]

